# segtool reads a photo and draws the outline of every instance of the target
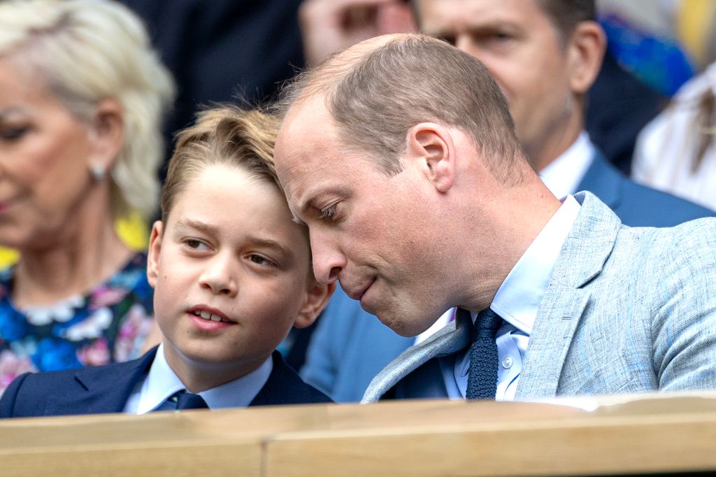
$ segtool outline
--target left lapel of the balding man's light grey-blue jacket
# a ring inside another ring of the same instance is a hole
[[[440,329],[425,342],[408,348],[379,372],[370,382],[361,402],[376,402],[398,381],[432,358],[463,350],[470,342],[471,327],[470,312],[458,310],[453,323]]]

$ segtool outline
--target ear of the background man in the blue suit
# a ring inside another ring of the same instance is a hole
[[[569,86],[584,95],[594,84],[606,51],[606,35],[596,21],[580,21],[567,45]]]

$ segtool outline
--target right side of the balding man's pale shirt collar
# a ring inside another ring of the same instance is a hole
[[[569,235],[581,206],[566,196],[532,244],[513,266],[495,294],[490,308],[506,322],[531,334],[562,245]],[[476,314],[473,313],[473,322]]]

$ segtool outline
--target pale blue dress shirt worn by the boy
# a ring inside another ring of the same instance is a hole
[[[274,362],[269,357],[263,365],[248,375],[199,392],[199,395],[204,398],[209,409],[245,408],[269,380],[273,369]],[[147,377],[137,383],[127,400],[124,412],[145,414],[153,410],[174,410],[173,406],[167,403],[167,399],[184,389],[185,386],[169,367],[164,356],[164,344],[160,344]]]

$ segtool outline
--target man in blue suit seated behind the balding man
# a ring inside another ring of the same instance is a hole
[[[348,3],[367,2],[342,2]],[[586,92],[605,49],[594,1],[414,3],[423,32],[477,57],[495,76],[528,159],[557,197],[591,191],[630,226],[674,226],[712,215],[637,186],[604,159],[584,132]],[[309,4],[316,8],[321,1]],[[338,290],[311,339],[301,375],[335,400],[358,399],[372,375],[412,344],[366,314]]]

